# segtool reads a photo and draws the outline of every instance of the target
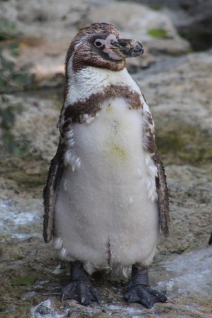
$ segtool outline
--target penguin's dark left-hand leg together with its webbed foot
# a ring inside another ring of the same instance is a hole
[[[70,262],[70,280],[61,290],[61,301],[75,299],[84,306],[88,306],[91,301],[99,303],[99,293],[90,283],[88,274],[78,261]]]

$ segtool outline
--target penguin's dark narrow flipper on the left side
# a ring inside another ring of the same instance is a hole
[[[50,162],[48,179],[43,191],[44,196],[44,230],[43,236],[46,243],[50,242],[53,236],[55,203],[61,172],[63,169],[61,144],[57,148],[55,157]]]

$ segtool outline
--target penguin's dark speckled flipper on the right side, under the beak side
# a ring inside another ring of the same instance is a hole
[[[164,165],[160,160],[160,156],[156,152],[153,156],[153,160],[157,167],[156,188],[157,188],[157,205],[160,213],[160,227],[165,237],[169,234],[169,207],[168,207],[168,187],[166,183],[166,174],[164,171]]]

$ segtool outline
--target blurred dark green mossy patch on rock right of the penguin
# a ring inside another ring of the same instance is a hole
[[[156,131],[156,142],[164,164],[201,166],[212,162],[212,135],[198,127]]]

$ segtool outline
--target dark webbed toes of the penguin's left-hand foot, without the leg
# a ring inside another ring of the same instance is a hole
[[[75,299],[81,305],[88,306],[91,301],[97,301],[99,303],[99,293],[92,286],[90,281],[79,279],[71,281],[62,289],[60,300],[62,302],[66,299]]]

